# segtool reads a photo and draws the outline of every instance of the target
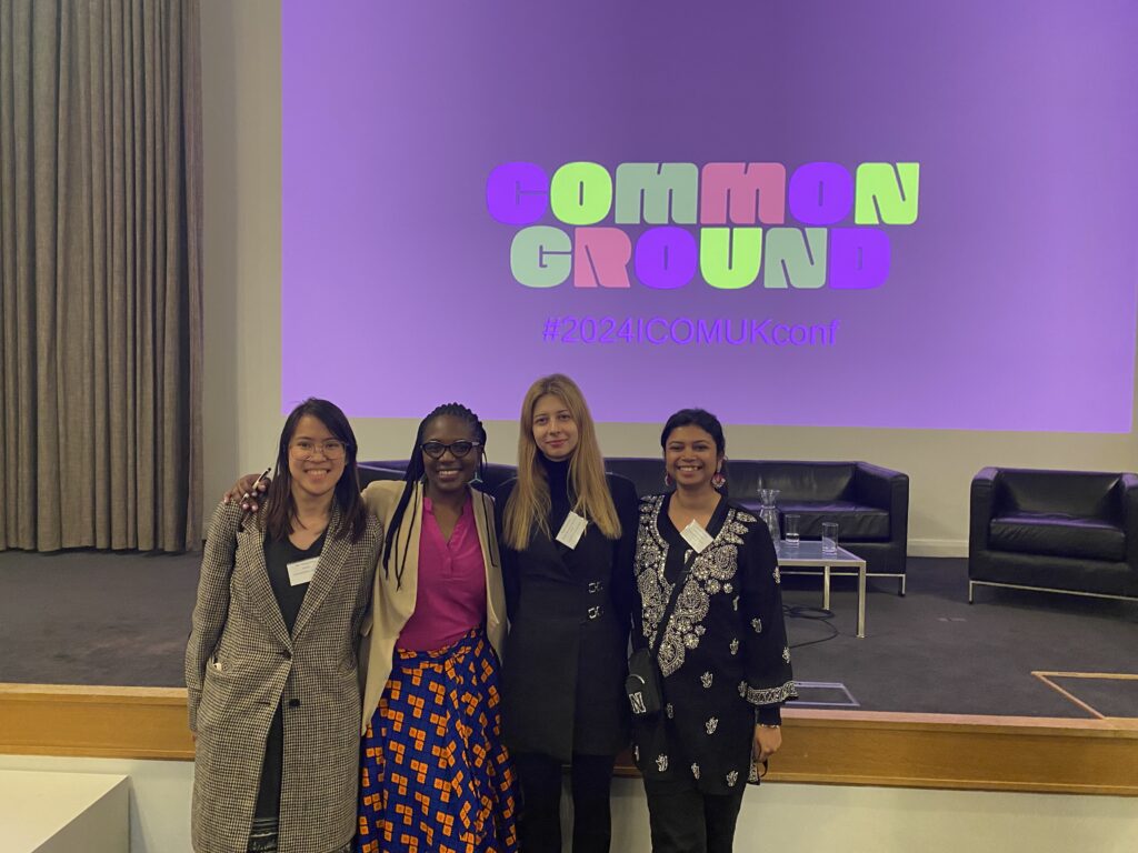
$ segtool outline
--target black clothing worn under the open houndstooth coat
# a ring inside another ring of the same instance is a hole
[[[325,531],[327,532],[327,531]],[[269,583],[277,596],[281,616],[289,635],[296,624],[304,595],[308,583],[297,583],[295,587],[288,578],[288,564],[302,560],[319,557],[324,550],[324,533],[307,548],[298,548],[288,539],[277,541],[265,535],[265,571],[269,572]],[[273,714],[269,737],[265,739],[265,763],[261,771],[261,788],[257,792],[257,808],[254,811],[254,827],[275,825],[281,808],[281,773],[284,765],[284,709],[278,704]]]

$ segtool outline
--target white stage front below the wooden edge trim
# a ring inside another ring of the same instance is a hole
[[[0,755],[0,770],[130,776],[131,853],[190,852],[189,762]],[[612,829],[613,853],[648,853],[638,779],[615,781]],[[1133,853],[1138,809],[1127,797],[766,785],[747,792],[735,850]]]

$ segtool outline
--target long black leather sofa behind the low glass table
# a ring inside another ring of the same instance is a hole
[[[641,495],[660,492],[663,462],[608,457],[605,466],[627,477]],[[909,478],[866,462],[773,462],[731,459],[725,466],[727,495],[756,514],[759,489],[780,489],[781,513],[800,516],[803,539],[820,539],[824,521],[838,522],[847,550],[864,557],[868,577],[897,578],[905,595],[908,554]]]

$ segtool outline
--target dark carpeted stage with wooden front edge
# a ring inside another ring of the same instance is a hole
[[[0,753],[192,759],[198,557],[0,553]],[[963,560],[784,583],[803,703],[770,781],[1138,796],[1138,605],[982,590]],[[626,771],[628,769],[626,768]]]

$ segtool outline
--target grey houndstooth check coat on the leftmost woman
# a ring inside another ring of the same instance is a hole
[[[360,680],[356,647],[382,539],[368,516],[358,543],[328,537],[289,636],[265,571],[259,515],[214,513],[185,649],[197,735],[192,840],[197,853],[246,853],[265,738],[283,703],[280,853],[329,853],[356,829]]]

